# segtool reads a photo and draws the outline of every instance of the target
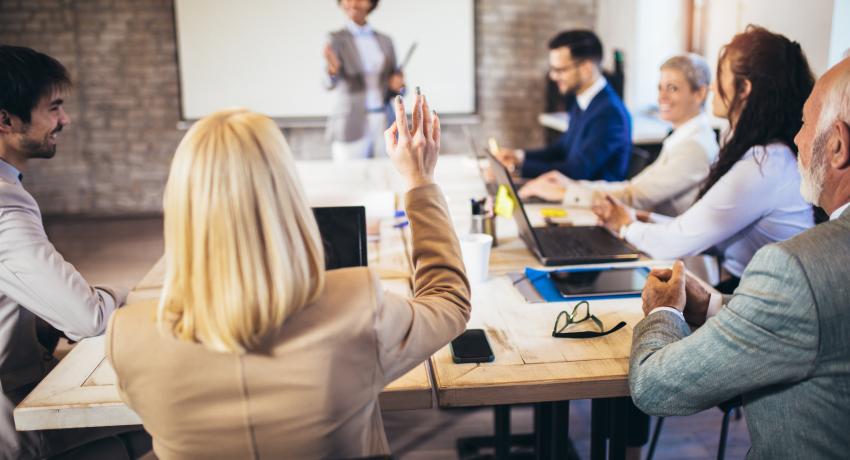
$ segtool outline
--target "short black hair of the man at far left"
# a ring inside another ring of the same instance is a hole
[[[0,45],[0,110],[29,123],[39,101],[69,86],[71,77],[56,59],[22,46]]]

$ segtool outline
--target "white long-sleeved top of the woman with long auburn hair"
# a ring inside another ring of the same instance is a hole
[[[633,222],[629,243],[656,259],[699,254],[717,246],[723,267],[740,277],[762,246],[814,225],[800,195],[797,160],[787,146],[751,148],[699,201],[664,222]]]

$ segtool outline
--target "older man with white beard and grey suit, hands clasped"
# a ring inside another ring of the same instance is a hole
[[[638,407],[686,415],[741,395],[748,458],[850,452],[850,59],[818,80],[803,119],[801,193],[830,222],[762,248],[723,302],[681,262],[653,271],[632,343]]]

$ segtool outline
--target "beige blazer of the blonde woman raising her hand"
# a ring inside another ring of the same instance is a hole
[[[321,297],[266,350],[239,355],[160,334],[156,304],[122,308],[106,354],[161,459],[351,458],[389,452],[378,394],[465,327],[469,285],[436,185],[405,197],[413,298],[365,267],[327,273]]]

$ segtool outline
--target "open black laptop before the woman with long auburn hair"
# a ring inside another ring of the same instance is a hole
[[[513,197],[517,188],[507,168],[489,155],[490,167],[499,185]],[[574,265],[637,260],[640,252],[603,227],[532,227],[525,207],[515,200],[513,216],[519,236],[543,265]]]

